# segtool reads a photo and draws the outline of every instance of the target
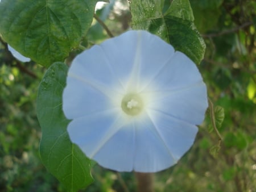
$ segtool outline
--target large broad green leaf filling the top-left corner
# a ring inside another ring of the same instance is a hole
[[[64,61],[90,27],[96,0],[2,0],[0,34],[43,66]]]

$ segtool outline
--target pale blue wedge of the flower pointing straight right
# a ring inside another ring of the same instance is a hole
[[[199,125],[204,120],[208,106],[205,84],[189,86],[184,89],[158,93],[155,101],[151,101],[150,109],[163,112],[184,122]]]

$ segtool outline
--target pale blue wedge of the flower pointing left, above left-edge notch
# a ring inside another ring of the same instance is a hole
[[[63,111],[68,119],[109,110],[115,106],[111,102],[110,90],[93,82],[82,81],[79,77],[68,76],[63,92]],[[110,96],[109,96],[110,95]]]

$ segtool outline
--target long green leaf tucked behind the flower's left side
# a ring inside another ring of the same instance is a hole
[[[68,66],[55,62],[40,83],[37,98],[37,115],[42,127],[39,153],[43,164],[68,191],[85,188],[92,181],[90,160],[67,133],[69,120],[62,111],[62,93]]]

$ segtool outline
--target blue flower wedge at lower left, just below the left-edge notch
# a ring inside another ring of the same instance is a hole
[[[123,126],[125,122],[119,119],[118,110],[106,110],[74,119],[68,124],[69,137],[86,156],[92,158]]]

